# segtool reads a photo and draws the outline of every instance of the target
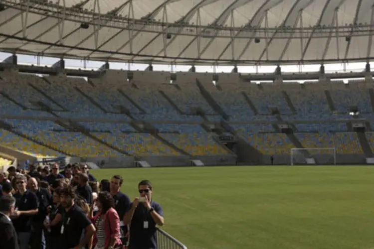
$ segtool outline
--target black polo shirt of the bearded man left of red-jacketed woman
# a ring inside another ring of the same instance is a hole
[[[91,221],[81,208],[74,204],[62,216],[61,240],[62,249],[71,249],[79,245],[83,231]]]

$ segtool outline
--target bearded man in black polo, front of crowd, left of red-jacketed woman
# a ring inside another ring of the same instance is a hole
[[[61,206],[65,210],[61,226],[62,249],[84,248],[96,231],[83,210],[75,204],[74,197],[74,189],[71,186],[61,189]],[[85,234],[81,239],[83,233]]]

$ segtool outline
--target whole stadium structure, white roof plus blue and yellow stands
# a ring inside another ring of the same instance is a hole
[[[13,54],[0,66],[0,153],[20,164],[63,156],[101,167],[258,165],[270,156],[289,164],[291,148],[328,147],[337,163],[367,163],[373,26],[371,0],[0,0],[0,51]],[[16,54],[61,60],[22,66]],[[105,64],[71,70],[68,58]],[[352,61],[367,66],[335,74],[323,66]],[[149,67],[117,71],[110,62]],[[311,63],[320,72],[279,66]],[[238,73],[264,64],[278,66]],[[196,73],[197,65],[232,73]],[[331,163],[331,153],[301,154]]]

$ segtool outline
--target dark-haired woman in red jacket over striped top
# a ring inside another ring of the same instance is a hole
[[[99,212],[91,219],[96,227],[95,249],[122,248],[120,236],[120,218],[113,208],[114,199],[109,192],[100,192],[96,205]]]

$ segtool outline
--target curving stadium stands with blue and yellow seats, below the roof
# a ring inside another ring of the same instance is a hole
[[[268,164],[271,155],[276,164],[289,164],[291,148],[304,147],[334,147],[339,164],[364,164],[373,157],[369,70],[306,75],[278,68],[242,75],[59,65],[1,64],[0,145],[24,154],[9,155],[66,156],[101,167],[189,166],[196,160],[258,165]],[[339,78],[359,80],[345,84]],[[301,79],[310,81],[300,84]],[[251,83],[258,80],[273,83]],[[324,156],[305,153],[316,161]]]

